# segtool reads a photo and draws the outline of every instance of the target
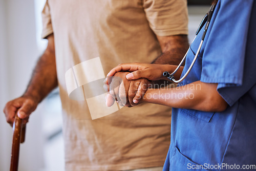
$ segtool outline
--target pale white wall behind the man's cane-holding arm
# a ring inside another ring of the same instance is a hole
[[[34,0],[0,0],[0,110],[23,94],[39,56],[35,37]],[[40,106],[39,106],[40,108]],[[40,110],[30,117],[25,144],[20,146],[19,170],[42,167]],[[12,129],[0,115],[0,170],[9,170]]]

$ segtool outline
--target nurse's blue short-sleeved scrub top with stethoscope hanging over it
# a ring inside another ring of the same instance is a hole
[[[182,75],[203,30],[190,47]],[[256,1],[219,0],[199,57],[179,86],[198,80],[218,83],[229,105],[224,112],[173,108],[163,170],[256,170],[255,69]]]

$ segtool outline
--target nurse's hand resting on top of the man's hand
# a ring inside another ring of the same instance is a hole
[[[172,65],[159,65],[151,63],[122,63],[117,67],[113,68],[107,75],[107,77],[112,77],[115,73],[120,71],[129,71],[131,73],[126,75],[128,80],[136,80],[139,78],[146,78],[148,80],[160,80],[165,79],[163,72],[172,72]]]

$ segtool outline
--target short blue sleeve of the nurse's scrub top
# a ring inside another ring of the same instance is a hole
[[[219,1],[205,38],[201,81],[218,83],[219,94],[230,106],[256,83],[255,57],[248,53],[252,6],[253,0]],[[255,46],[255,37],[252,40]]]

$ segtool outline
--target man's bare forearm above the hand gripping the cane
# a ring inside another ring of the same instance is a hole
[[[46,50],[39,58],[23,96],[30,97],[39,103],[56,87],[55,54],[52,51]]]

